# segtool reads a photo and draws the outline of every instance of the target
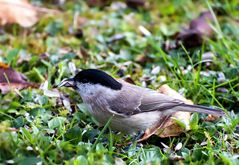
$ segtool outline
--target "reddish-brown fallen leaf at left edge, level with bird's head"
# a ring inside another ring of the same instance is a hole
[[[11,89],[37,87],[36,84],[28,82],[23,74],[6,66],[6,64],[0,63],[0,90],[3,94]]]

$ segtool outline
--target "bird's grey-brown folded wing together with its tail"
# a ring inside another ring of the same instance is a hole
[[[158,93],[154,90],[141,88],[135,85],[123,85],[121,93],[116,99],[109,103],[110,109],[115,114],[130,116],[150,111],[176,112],[199,112],[223,116],[225,113],[221,109],[214,109],[200,105],[189,105],[183,101],[174,99],[168,95]]]

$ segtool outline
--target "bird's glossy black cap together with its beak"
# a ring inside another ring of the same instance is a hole
[[[58,87],[74,87],[76,82],[82,84],[100,84],[113,90],[120,90],[122,84],[107,73],[97,69],[86,69],[77,73],[73,78],[64,79]]]

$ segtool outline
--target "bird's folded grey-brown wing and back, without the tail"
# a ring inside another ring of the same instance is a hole
[[[182,101],[170,96],[130,84],[124,85],[117,99],[109,103],[112,112],[125,116],[155,110],[163,111],[181,104]]]

